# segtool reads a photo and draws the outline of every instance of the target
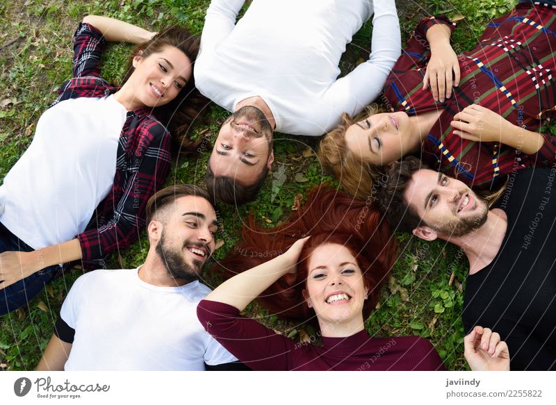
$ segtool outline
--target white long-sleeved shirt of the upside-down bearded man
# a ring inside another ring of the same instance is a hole
[[[400,56],[394,0],[254,0],[236,24],[243,3],[211,1],[195,84],[229,111],[262,97],[277,131],[329,131],[341,113],[358,113],[378,96]],[[370,58],[336,80],[345,45],[373,11]]]

